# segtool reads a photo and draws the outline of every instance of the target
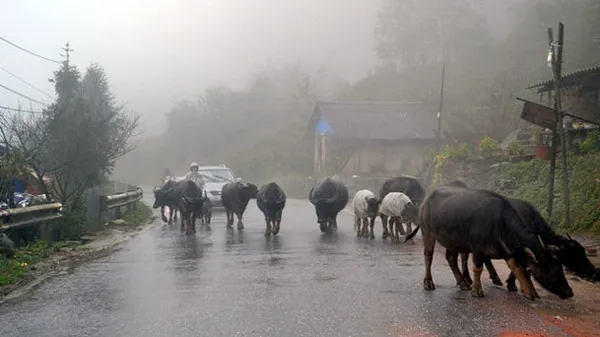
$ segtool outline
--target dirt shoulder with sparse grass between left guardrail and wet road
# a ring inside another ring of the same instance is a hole
[[[27,271],[18,281],[0,287],[0,304],[15,300],[35,289],[45,280],[67,272],[86,261],[101,258],[120,250],[123,243],[151,228],[156,219],[156,216],[152,215],[141,225],[109,226],[102,232],[86,236],[85,240],[89,241],[85,244],[59,243],[58,251],[42,261],[32,265],[20,263],[20,267],[27,268]]]

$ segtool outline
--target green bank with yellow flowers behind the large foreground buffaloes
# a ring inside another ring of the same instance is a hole
[[[562,197],[562,167],[557,158],[554,206],[551,225],[561,232],[592,232],[600,234],[600,131],[575,143],[568,157],[569,191],[571,201],[571,227],[564,223]],[[436,168],[432,185],[446,182],[448,168],[453,167],[459,179],[469,185],[490,188],[502,194],[531,202],[548,219],[548,160],[531,159],[510,162],[510,157],[520,156],[522,151],[516,143],[502,150],[498,143],[485,137],[479,146],[457,143],[447,146],[435,158]],[[483,165],[474,165],[477,162]],[[489,166],[498,164],[495,169]],[[487,172],[479,172],[482,170]],[[474,175],[483,175],[479,180]]]

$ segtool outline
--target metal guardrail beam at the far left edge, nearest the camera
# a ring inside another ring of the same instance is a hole
[[[60,202],[2,210],[0,232],[59,219],[62,217],[61,211]]]

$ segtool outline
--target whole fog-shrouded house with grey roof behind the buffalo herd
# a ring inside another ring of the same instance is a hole
[[[436,128],[437,108],[421,103],[318,102],[305,139],[314,141],[316,173],[419,174]],[[334,156],[339,165],[324,170]]]

